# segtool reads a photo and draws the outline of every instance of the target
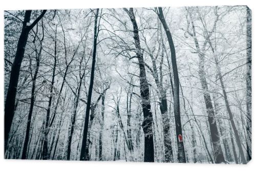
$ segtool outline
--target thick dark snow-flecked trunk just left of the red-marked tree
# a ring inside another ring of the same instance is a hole
[[[124,9],[125,12],[129,15],[131,22],[133,24],[133,33],[134,33],[134,41],[136,47],[136,57],[139,61],[139,69],[140,69],[140,95],[142,100],[142,109],[144,120],[142,123],[142,128],[144,132],[144,162],[154,162],[154,139],[153,139],[153,116],[151,112],[151,104],[150,104],[150,88],[148,86],[148,82],[146,79],[146,70],[143,60],[143,52],[140,47],[140,38],[139,38],[139,30],[138,25],[135,19],[135,15],[133,12],[133,8],[130,8],[128,11]]]

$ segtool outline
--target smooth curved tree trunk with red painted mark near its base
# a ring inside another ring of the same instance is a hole
[[[158,16],[165,30],[165,33],[169,42],[171,57],[172,57],[173,76],[174,76],[174,115],[175,115],[175,125],[176,125],[176,140],[178,145],[178,161],[180,163],[185,163],[186,156],[185,156],[185,150],[184,150],[184,144],[183,144],[183,138],[182,138],[182,125],[181,125],[181,119],[180,119],[179,75],[178,75],[178,68],[177,68],[177,62],[176,62],[175,46],[174,46],[172,34],[170,33],[169,27],[167,26],[167,23],[163,16],[162,8],[159,7],[158,10],[159,10]]]

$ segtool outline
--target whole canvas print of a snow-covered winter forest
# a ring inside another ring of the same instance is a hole
[[[6,159],[251,159],[246,6],[4,15]]]

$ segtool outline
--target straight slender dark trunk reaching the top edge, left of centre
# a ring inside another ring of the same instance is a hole
[[[86,119],[84,120],[83,136],[82,136],[82,145],[81,145],[81,154],[80,160],[86,160],[86,144],[88,137],[88,126],[89,126],[89,117],[90,117],[90,107],[93,93],[93,81],[94,81],[94,70],[96,62],[96,50],[97,50],[97,20],[98,20],[99,9],[96,9],[95,22],[94,22],[94,40],[93,40],[93,59],[92,59],[92,69],[91,69],[91,79],[90,86],[88,91],[88,100],[86,105]]]

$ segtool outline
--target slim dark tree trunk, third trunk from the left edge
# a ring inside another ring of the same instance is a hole
[[[51,113],[51,106],[52,106],[52,98],[53,98],[53,85],[55,79],[55,70],[57,65],[57,26],[55,28],[55,38],[54,38],[54,65],[53,65],[53,73],[52,73],[52,81],[50,87],[50,97],[48,102],[47,114],[46,114],[46,122],[45,122],[45,137],[44,137],[44,146],[42,149],[42,159],[47,160],[49,159],[49,151],[48,151],[48,134],[50,131],[49,122],[50,122],[50,113]]]

